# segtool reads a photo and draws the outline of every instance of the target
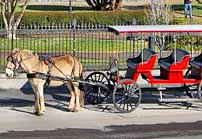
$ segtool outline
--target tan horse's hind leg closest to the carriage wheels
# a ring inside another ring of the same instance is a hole
[[[74,82],[73,83],[73,87],[74,87],[74,92],[75,92],[75,95],[76,95],[76,105],[75,105],[75,108],[74,108],[74,111],[75,112],[78,112],[80,110],[80,89],[79,89],[79,83],[78,82]]]

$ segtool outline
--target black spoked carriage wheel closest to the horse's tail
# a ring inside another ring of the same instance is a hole
[[[109,86],[110,81],[107,76],[102,72],[93,72],[89,74],[86,79],[88,82],[92,83],[103,83],[106,86]],[[85,89],[85,99],[90,104],[100,104],[104,99],[109,96],[110,91],[108,88],[104,88],[99,85],[87,84]]]

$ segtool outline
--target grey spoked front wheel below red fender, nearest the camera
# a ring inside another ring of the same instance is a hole
[[[134,111],[141,102],[142,92],[136,83],[132,80],[123,81],[115,85],[113,91],[114,107],[123,113]]]

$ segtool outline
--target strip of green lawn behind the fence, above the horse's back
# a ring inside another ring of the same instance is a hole
[[[0,44],[5,47],[0,47],[0,51],[10,51],[11,40],[0,38]],[[68,38],[18,38],[14,40],[14,48],[30,49],[40,52],[63,52],[63,51],[79,51],[79,52],[132,52],[140,51],[141,45],[148,46],[148,42],[138,40],[121,41],[121,40],[100,40],[100,39],[83,39],[76,40]],[[134,46],[133,49],[131,46]]]

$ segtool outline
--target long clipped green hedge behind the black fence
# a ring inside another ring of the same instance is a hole
[[[117,24],[136,19],[143,22],[145,12],[140,11],[100,11],[100,12],[26,12],[21,24],[66,24],[74,19],[78,23]],[[0,23],[2,19],[0,18]]]

